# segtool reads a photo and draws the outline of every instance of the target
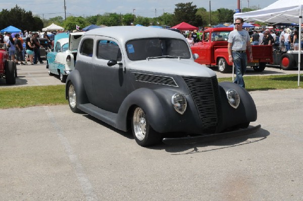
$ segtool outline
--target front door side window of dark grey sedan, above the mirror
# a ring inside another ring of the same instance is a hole
[[[97,43],[97,58],[105,60],[122,60],[121,50],[119,45],[110,40],[100,40]]]

